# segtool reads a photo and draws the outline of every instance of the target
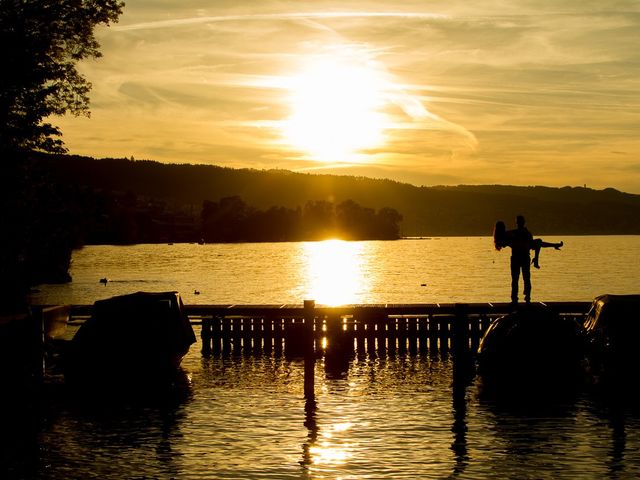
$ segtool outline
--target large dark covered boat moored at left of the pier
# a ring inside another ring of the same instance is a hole
[[[64,360],[75,385],[171,381],[196,341],[177,292],[138,292],[96,301]]]

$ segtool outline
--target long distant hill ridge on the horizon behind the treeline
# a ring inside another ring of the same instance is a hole
[[[268,209],[351,199],[396,209],[404,236],[490,235],[517,214],[534,235],[640,234],[640,195],[612,188],[502,185],[417,187],[391,180],[284,170],[231,169],[128,159],[43,156],[56,181],[162,201],[199,215],[204,201],[239,196]]]

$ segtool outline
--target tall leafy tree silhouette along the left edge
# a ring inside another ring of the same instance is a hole
[[[52,115],[89,112],[76,64],[100,56],[93,30],[120,0],[0,0],[0,310],[24,308],[30,285],[68,281],[77,246],[70,182],[52,183],[35,152],[63,152]]]

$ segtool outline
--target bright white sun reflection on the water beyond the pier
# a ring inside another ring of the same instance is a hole
[[[306,243],[305,298],[329,306],[359,303],[370,282],[365,250],[365,242]]]

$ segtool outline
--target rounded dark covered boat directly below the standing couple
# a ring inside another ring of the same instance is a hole
[[[491,324],[477,360],[485,383],[510,387],[577,380],[584,361],[582,326],[548,308],[524,308]]]

